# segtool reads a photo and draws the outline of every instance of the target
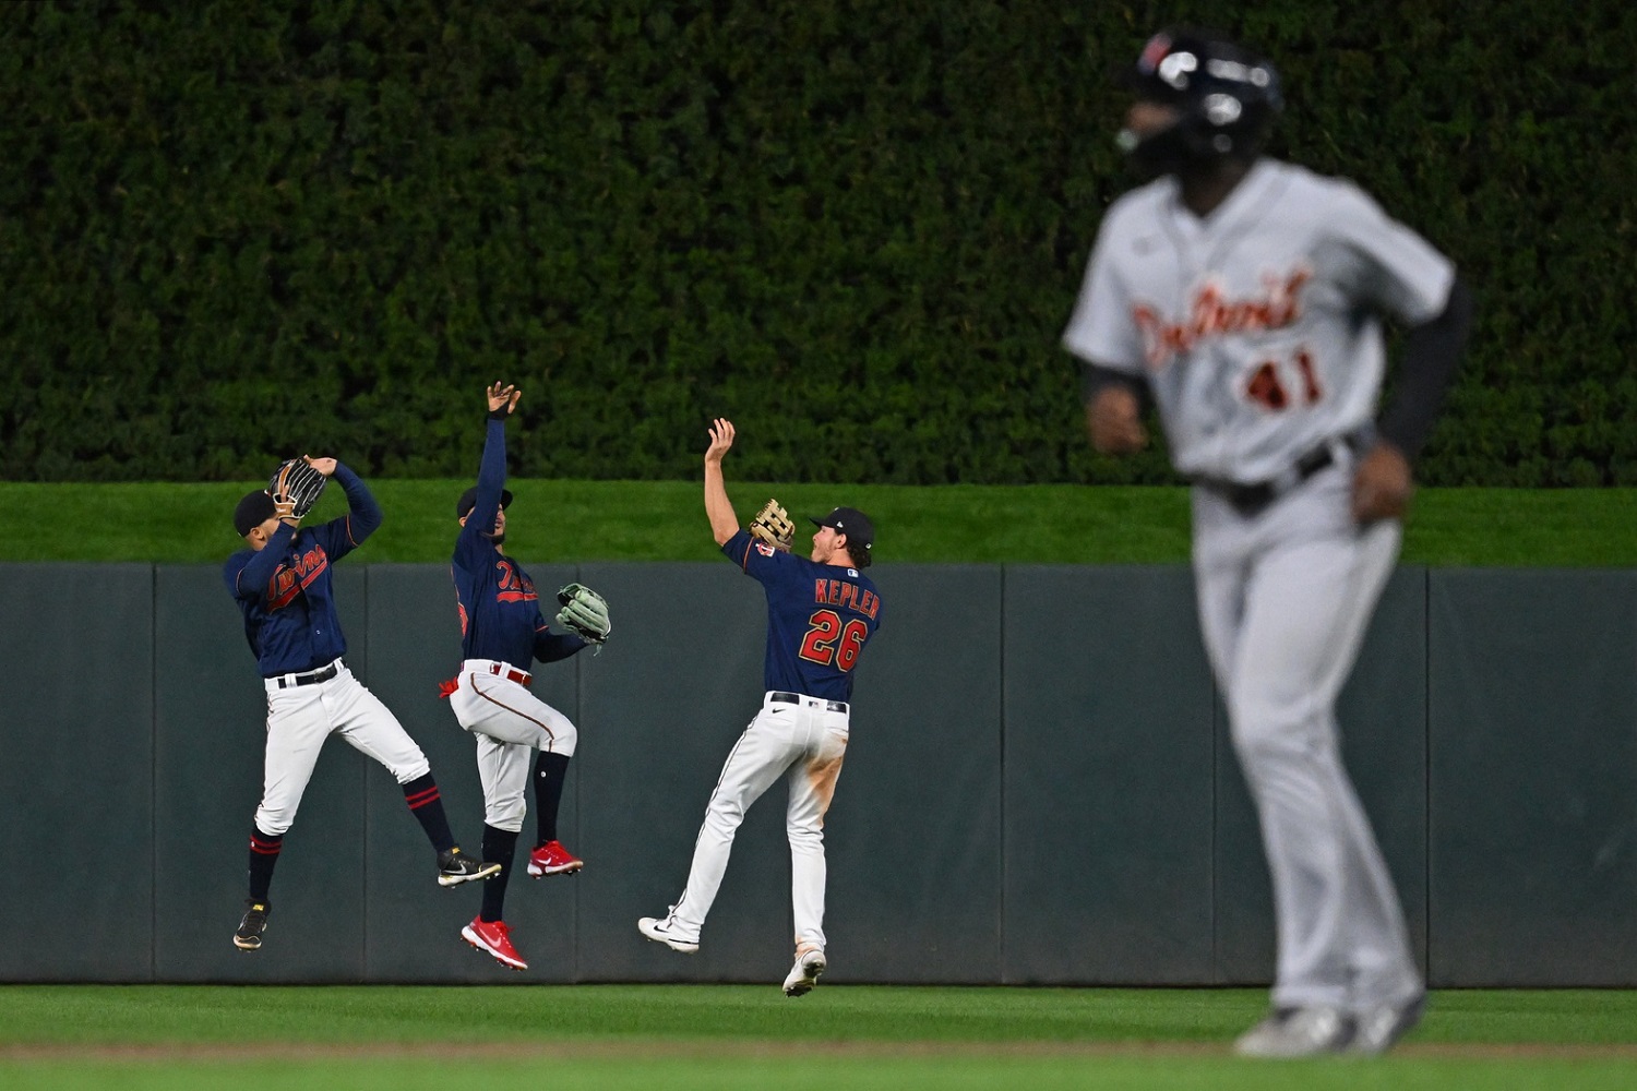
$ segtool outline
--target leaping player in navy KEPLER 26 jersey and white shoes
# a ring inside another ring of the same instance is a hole
[[[645,916],[637,927],[673,950],[699,950],[745,810],[784,777],[796,921],[796,965],[784,978],[784,994],[802,996],[828,965],[823,816],[846,754],[853,669],[881,625],[881,595],[863,574],[876,535],[863,512],[838,507],[812,520],[817,532],[805,559],[753,538],[740,528],[722,483],[722,456],[730,447],[733,424],[719,419],[706,451],[706,515],[722,553],[766,592],[766,692],[710,795],[681,900],[666,916]]]

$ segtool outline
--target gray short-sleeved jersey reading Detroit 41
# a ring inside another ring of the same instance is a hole
[[[1120,198],[1062,340],[1146,378],[1179,473],[1254,483],[1373,419],[1377,314],[1432,319],[1452,283],[1351,182],[1264,159],[1205,219],[1170,177]]]

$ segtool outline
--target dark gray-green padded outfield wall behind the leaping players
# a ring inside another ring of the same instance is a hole
[[[1180,566],[905,564],[871,572],[825,826],[835,981],[1260,985],[1267,869]],[[697,955],[635,919],[681,893],[710,788],[761,697],[766,607],[732,564],[534,569],[555,613],[612,605],[601,654],[540,664],[579,730],[573,878],[507,921],[529,973],[458,937],[403,793],[331,739],[273,882],[264,950],[229,942],[265,697],[216,566],[0,564],[5,981],[769,981],[791,957],[784,785],[750,810]],[[349,664],[426,751],[478,851],[473,741],[444,564],[336,572]],[[1339,720],[1436,986],[1637,985],[1637,574],[1400,568]],[[532,805],[532,800],[530,800]],[[85,937],[97,937],[87,945]]]

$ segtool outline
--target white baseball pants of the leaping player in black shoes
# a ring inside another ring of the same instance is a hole
[[[264,679],[267,765],[255,828],[265,834],[290,831],[301,793],[318,765],[318,754],[331,734],[339,734],[360,754],[386,765],[398,783],[409,783],[432,772],[426,754],[398,723],[398,716],[340,659],[331,666],[337,671],[327,682],[291,685],[295,676],[288,674]],[[285,680],[283,687],[280,680]]]

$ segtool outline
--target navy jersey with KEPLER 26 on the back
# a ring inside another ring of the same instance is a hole
[[[818,564],[740,530],[722,553],[768,594],[764,689],[850,700],[853,667],[881,626],[881,595],[856,568]]]

